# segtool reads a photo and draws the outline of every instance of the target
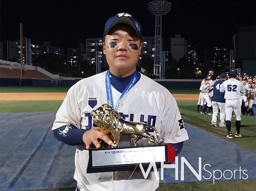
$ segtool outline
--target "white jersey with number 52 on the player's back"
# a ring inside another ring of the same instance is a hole
[[[245,92],[244,84],[237,79],[229,79],[223,82],[219,91],[224,92],[226,100],[240,99],[240,93]]]

